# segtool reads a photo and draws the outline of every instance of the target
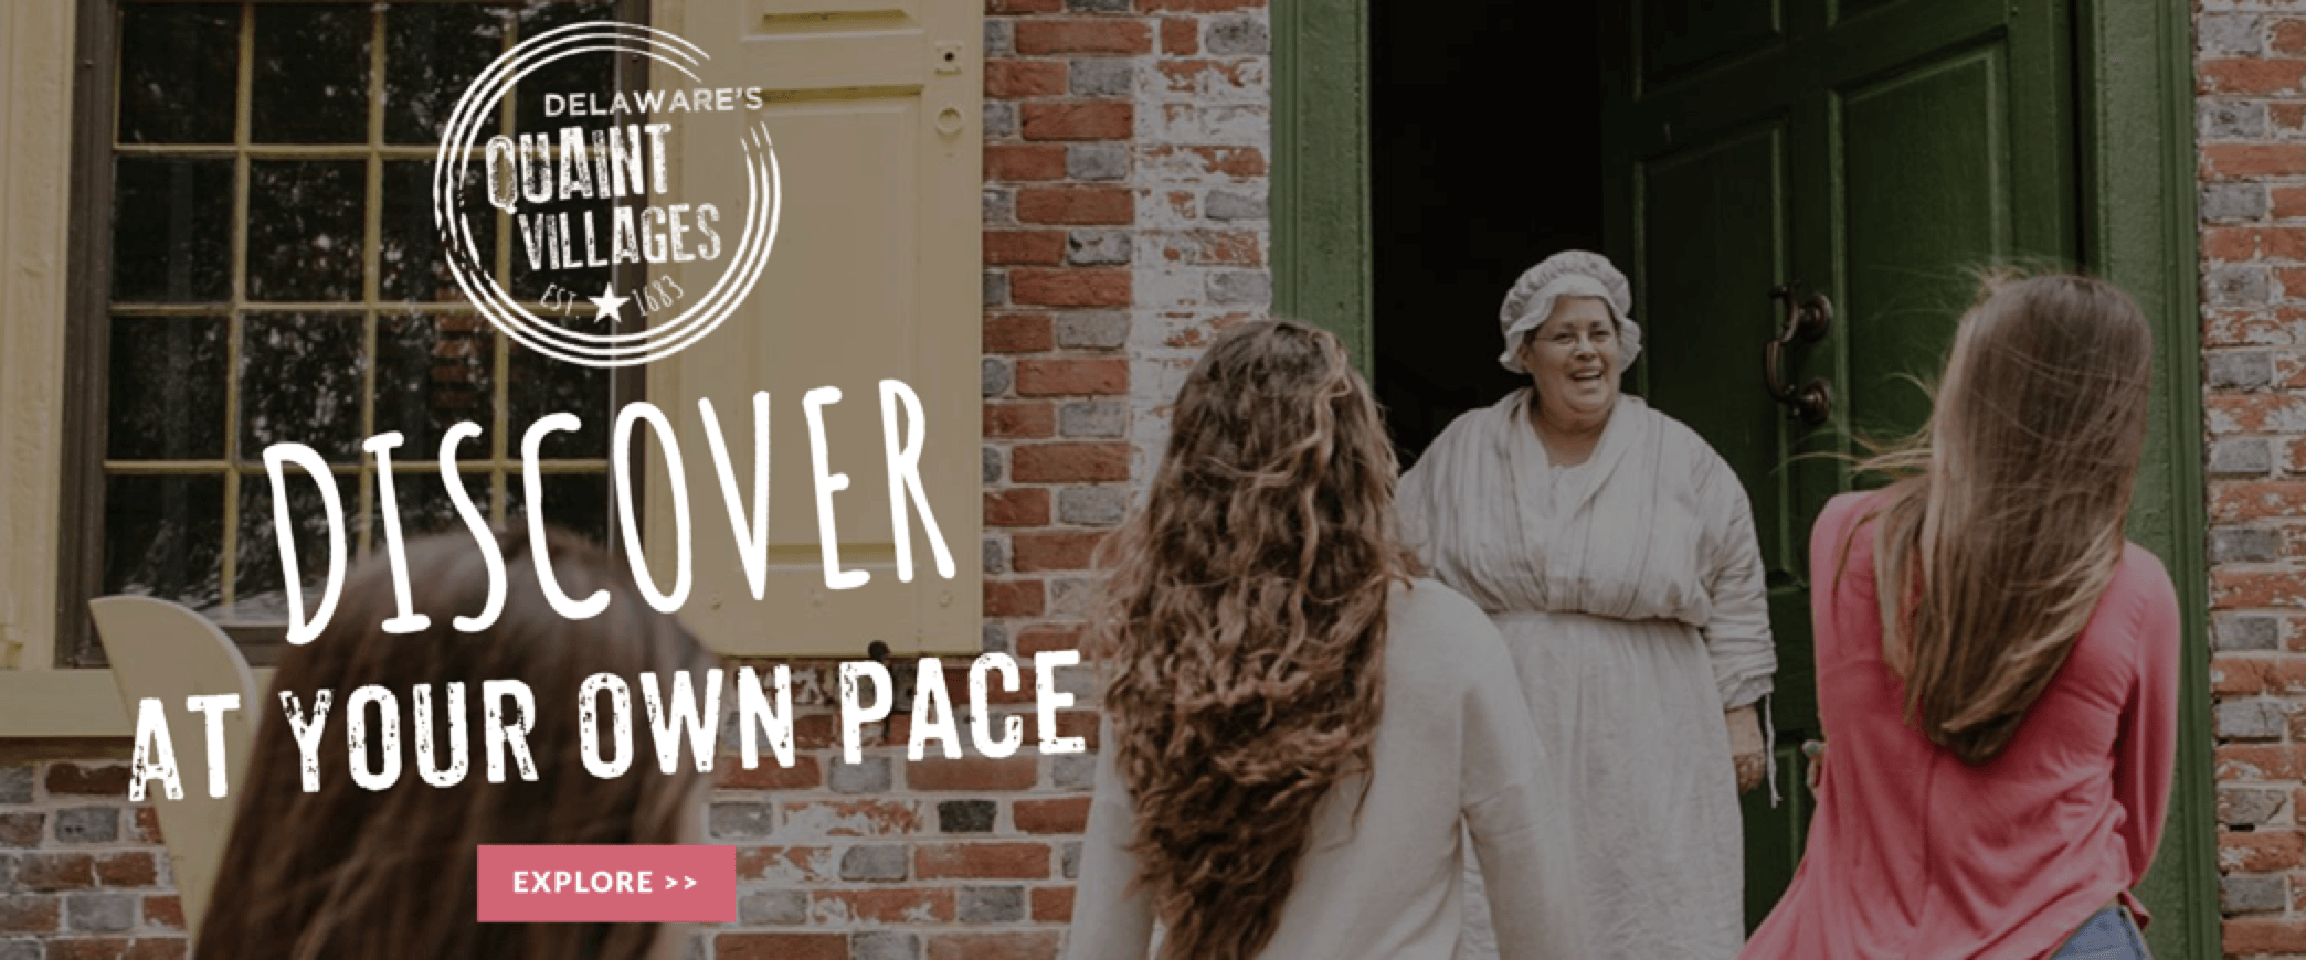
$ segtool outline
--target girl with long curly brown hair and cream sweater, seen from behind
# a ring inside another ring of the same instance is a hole
[[[1444,960],[1462,836],[1506,958],[1580,958],[1575,847],[1487,617],[1395,539],[1393,447],[1328,334],[1229,332],[1109,546],[1072,960]]]

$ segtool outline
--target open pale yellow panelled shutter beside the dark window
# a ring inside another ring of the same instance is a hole
[[[655,25],[701,46],[699,78],[763,87],[761,111],[683,117],[683,184],[740,184],[740,129],[766,122],[782,170],[777,244],[759,285],[710,336],[648,366],[648,398],[676,424],[689,490],[696,587],[683,619],[729,654],[862,656],[973,652],[982,612],[980,163],[982,5],[975,0],[660,0]],[[685,78],[653,76],[657,87]],[[726,143],[726,150],[713,145]],[[738,216],[738,214],[726,214]],[[733,223],[729,230],[736,230]],[[733,233],[731,233],[733,242]],[[708,269],[689,272],[710,281]],[[680,279],[680,272],[673,272]],[[683,283],[687,285],[687,283]],[[694,290],[694,288],[692,288]],[[922,486],[957,576],[936,576],[913,511],[892,532],[881,380],[920,396]],[[802,396],[826,407],[828,470],[844,569],[865,587],[828,589]],[[770,573],[752,599],[729,529],[710,398],[738,488],[752,490],[752,394],[770,394]],[[648,555],[671,587],[673,502],[662,460],[646,500]],[[911,536],[913,582],[897,582],[895,536]]]

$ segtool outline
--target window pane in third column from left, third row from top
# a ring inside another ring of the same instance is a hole
[[[376,433],[401,431],[401,463],[438,463],[457,421],[496,424],[496,329],[477,315],[376,320]],[[484,460],[489,437],[466,440],[464,460]]]

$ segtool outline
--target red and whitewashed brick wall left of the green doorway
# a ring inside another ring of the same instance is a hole
[[[1165,403],[1211,329],[1271,299],[1266,23],[1264,0],[987,0],[987,649],[1079,642],[1091,550],[1158,454]],[[1056,958],[1093,757],[915,764],[897,716],[844,764],[830,668],[793,686],[800,762],[719,764],[706,815],[738,847],[738,923],[696,953]],[[1084,709],[1058,732],[1095,746],[1093,670],[1061,686]],[[1026,677],[998,709],[1038,741],[1031,695]],[[0,960],[182,958],[166,882],[125,764],[0,767]]]

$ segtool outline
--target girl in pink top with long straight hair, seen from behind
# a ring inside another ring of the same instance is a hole
[[[1801,870],[1743,958],[2145,958],[2179,608],[2122,534],[2151,336],[2122,290],[2006,283],[1905,474],[1810,534],[1831,744]]]

